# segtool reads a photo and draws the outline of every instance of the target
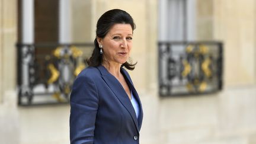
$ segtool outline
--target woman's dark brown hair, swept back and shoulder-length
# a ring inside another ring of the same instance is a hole
[[[87,59],[87,63],[89,66],[100,66],[103,62],[103,55],[100,54],[100,47],[97,41],[97,37],[104,38],[114,24],[130,24],[132,30],[135,30],[136,27],[130,14],[121,9],[111,9],[101,15],[97,22],[96,38],[94,40],[94,50],[92,52],[92,56]],[[123,63],[122,66],[129,70],[133,70],[135,69],[136,64],[137,63],[133,64],[132,62],[129,63],[126,61],[125,63]]]

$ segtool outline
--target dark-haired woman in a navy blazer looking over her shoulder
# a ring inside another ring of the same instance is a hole
[[[97,23],[88,68],[76,78],[71,92],[71,143],[139,143],[143,111],[129,63],[135,24],[121,9],[105,12]]]

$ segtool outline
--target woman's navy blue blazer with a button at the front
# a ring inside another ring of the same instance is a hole
[[[139,143],[142,104],[128,72],[120,71],[139,103],[139,117],[120,82],[104,66],[88,67],[76,77],[71,92],[72,144]]]

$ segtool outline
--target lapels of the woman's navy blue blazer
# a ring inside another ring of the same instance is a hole
[[[133,122],[136,125],[137,131],[139,132],[142,121],[140,121],[140,124],[138,124],[138,120],[137,120],[137,117],[136,117],[135,110],[133,108],[132,103],[130,102],[130,99],[129,99],[128,95],[126,94],[126,91],[124,91],[123,86],[120,84],[120,82],[113,75],[111,75],[110,72],[107,71],[107,69],[104,66],[98,66],[97,68],[100,70],[101,75],[102,75],[104,81],[107,83],[108,87],[110,87],[110,89],[113,91],[113,93],[119,99],[120,103],[124,105],[126,110],[129,111],[130,116],[132,117]],[[129,76],[127,76],[127,73],[124,72],[123,68],[121,68],[120,71],[124,75],[124,78],[126,79],[126,81],[128,80],[127,81],[128,85],[131,86],[132,82],[130,81]],[[134,89],[133,85],[132,85],[132,89]],[[137,92],[136,92],[136,94],[137,94]],[[137,100],[138,100],[138,98],[137,98]],[[139,102],[139,104],[140,104],[140,102]],[[140,104],[140,107],[142,107],[141,104]],[[142,113],[141,108],[140,108],[140,111]]]

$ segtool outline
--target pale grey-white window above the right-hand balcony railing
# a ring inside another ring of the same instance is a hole
[[[195,0],[160,0],[158,40],[195,40],[195,8]]]

